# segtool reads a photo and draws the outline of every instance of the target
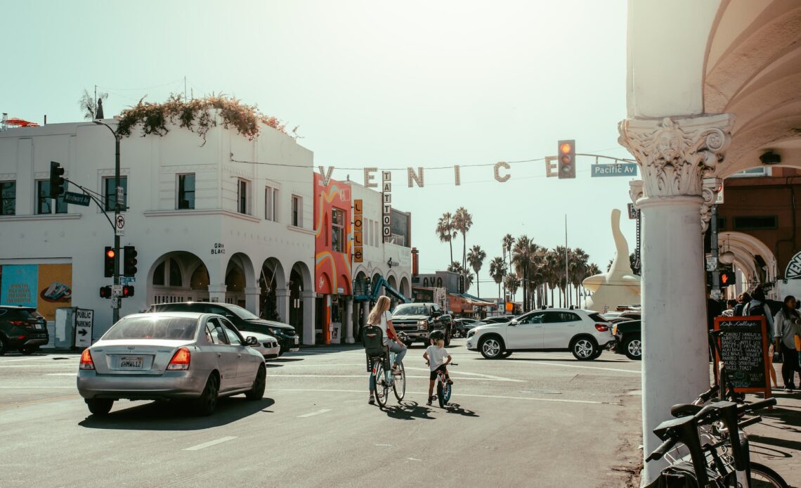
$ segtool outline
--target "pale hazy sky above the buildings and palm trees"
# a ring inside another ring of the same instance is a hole
[[[421,272],[449,263],[437,219],[467,208],[468,248],[487,253],[481,296],[497,295],[489,261],[506,233],[553,248],[565,243],[567,216],[570,248],[605,270],[618,208],[634,250],[630,177],[591,178],[595,159],[579,156],[576,179],[545,178],[541,161],[559,139],[575,139],[578,153],[631,157],[617,142],[626,0],[37,1],[7,2],[3,16],[0,111],[10,117],[80,121],[78,99],[95,86],[109,94],[106,117],[184,87],[235,96],[299,126],[315,165],[400,168],[392,203],[412,212]],[[529,162],[510,163],[499,183],[498,161]],[[407,188],[406,167],[447,168]],[[333,173],[348,176],[363,183],[358,169]],[[459,237],[454,258],[461,248]]]

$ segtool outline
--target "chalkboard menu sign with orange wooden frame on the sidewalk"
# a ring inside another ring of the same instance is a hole
[[[766,397],[770,396],[766,361],[769,339],[765,331],[765,317],[716,317],[714,329],[723,331],[718,337],[721,350],[719,353],[715,351],[715,365],[723,361],[735,390],[761,391]],[[715,367],[715,372],[719,371]]]

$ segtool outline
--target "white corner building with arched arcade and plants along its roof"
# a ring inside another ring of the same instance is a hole
[[[138,271],[130,279],[135,295],[122,300],[120,316],[162,302],[227,302],[288,322],[312,344],[312,151],[264,125],[251,140],[218,120],[205,142],[168,127],[163,136],[135,131],[121,139],[120,245],[135,246]],[[110,300],[99,288],[111,284],[103,253],[115,232],[97,205],[46,197],[50,161],[66,170],[68,191],[82,192],[80,185],[113,207],[115,137],[107,127],[59,123],[0,132],[2,301],[93,309],[96,339],[111,327]]]

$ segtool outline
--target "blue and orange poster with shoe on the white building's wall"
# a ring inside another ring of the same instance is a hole
[[[0,267],[0,302],[35,307],[47,321],[72,305],[72,264],[6,264]]]

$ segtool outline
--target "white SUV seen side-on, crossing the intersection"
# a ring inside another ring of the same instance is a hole
[[[533,310],[502,324],[480,325],[467,334],[467,349],[487,359],[513,351],[570,351],[579,361],[614,347],[609,322],[591,310]]]

